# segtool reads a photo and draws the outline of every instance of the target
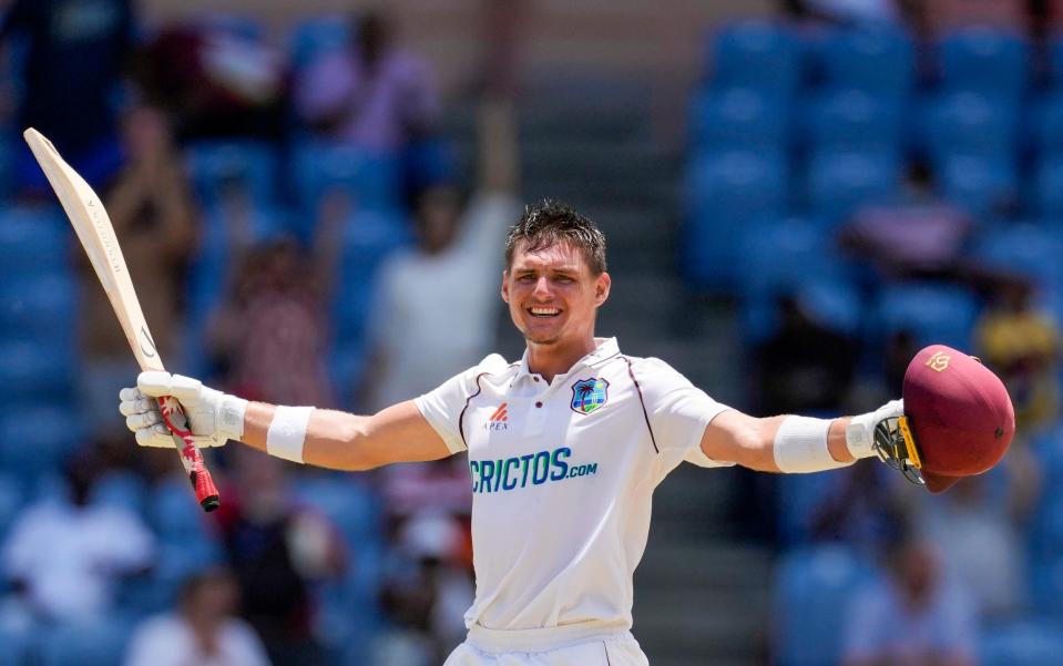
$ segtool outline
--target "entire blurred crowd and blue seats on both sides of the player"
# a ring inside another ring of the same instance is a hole
[[[167,368],[372,411],[492,350],[520,209],[510,4],[483,3],[466,168],[431,63],[387,13],[276,35],[232,14],[146,25],[130,0],[8,3],[0,664],[419,666],[461,639],[462,459],[337,475],[226,447],[204,515],[172,453],[133,450],[116,396],[137,368],[19,133],[101,194]],[[1052,663],[1060,8],[779,6],[708,38],[685,146],[677,269],[737,304],[740,407],[867,411],[936,341],[1001,376],[1018,436],[934,498],[870,463],[727,472],[736,524],[779,552],[770,660]]]

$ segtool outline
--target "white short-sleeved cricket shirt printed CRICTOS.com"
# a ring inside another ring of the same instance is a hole
[[[632,575],[654,488],[709,460],[727,407],[615,338],[553,382],[498,355],[416,399],[453,452],[468,450],[477,594],[466,625],[632,625]]]

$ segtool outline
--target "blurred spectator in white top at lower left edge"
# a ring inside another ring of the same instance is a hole
[[[130,509],[91,503],[102,465],[91,449],[64,465],[68,496],[24,509],[3,544],[4,577],[38,621],[75,621],[112,609],[115,586],[152,565],[155,541]]]

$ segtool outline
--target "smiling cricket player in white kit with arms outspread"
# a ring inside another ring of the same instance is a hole
[[[502,299],[528,344],[517,362],[491,355],[374,416],[248,402],[166,372],[141,373],[120,410],[137,443],[172,448],[150,399],[172,395],[201,445],[237,440],[337,470],[466,452],[477,592],[468,639],[446,666],[645,666],[630,631],[632,575],[668,472],[683,461],[846,467],[876,454],[876,426],[903,406],[838,419],[744,414],[664,361],[595,338],[610,285],[602,233],[543,202],[505,244]]]

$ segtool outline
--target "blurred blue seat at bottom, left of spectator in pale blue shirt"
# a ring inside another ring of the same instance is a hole
[[[812,546],[785,555],[775,575],[775,663],[838,664],[846,606],[868,575],[857,555],[842,545]]]

